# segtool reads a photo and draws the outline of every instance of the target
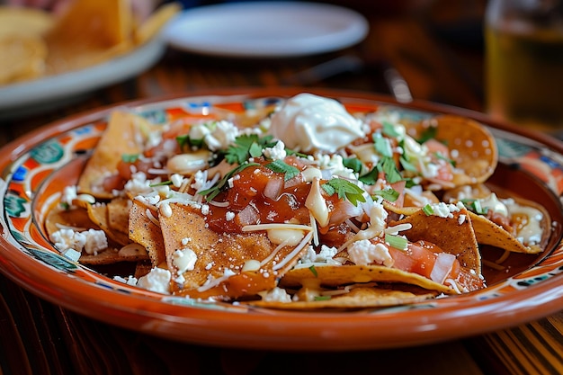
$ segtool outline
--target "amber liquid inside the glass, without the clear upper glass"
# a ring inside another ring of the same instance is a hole
[[[487,111],[497,119],[563,131],[563,31],[488,26]]]

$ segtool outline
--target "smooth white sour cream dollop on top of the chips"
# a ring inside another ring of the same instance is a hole
[[[298,94],[275,112],[269,133],[301,152],[335,152],[365,135],[362,121],[334,99]]]

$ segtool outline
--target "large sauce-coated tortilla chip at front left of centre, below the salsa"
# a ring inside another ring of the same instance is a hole
[[[174,262],[177,252],[188,251],[196,256],[191,270],[181,275],[173,273],[173,280],[178,276],[183,279],[182,287],[174,283],[176,294],[192,298],[241,297],[273,289],[308,244],[305,237],[300,248],[279,248],[264,234],[218,234],[206,228],[205,219],[198,213],[201,208],[182,204],[170,207],[170,216],[160,216],[168,269],[178,269]],[[249,267],[248,262],[255,266]]]

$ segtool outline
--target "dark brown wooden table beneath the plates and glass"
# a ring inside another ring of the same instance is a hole
[[[478,32],[478,4],[477,18],[467,18],[467,9],[461,8],[445,18],[442,8],[416,16],[372,9],[366,13],[371,22],[366,40],[322,56],[249,61],[170,49],[155,67],[133,79],[52,112],[4,119],[0,145],[76,112],[163,94],[281,85],[389,94],[383,78],[389,66],[406,78],[416,99],[482,111],[482,46],[478,34],[461,32]],[[367,65],[321,80],[298,74],[343,56],[360,57]],[[0,275],[0,373],[558,373],[563,369],[561,308],[559,314],[523,326],[448,343],[351,353],[276,353],[179,344],[110,326],[39,299]]]

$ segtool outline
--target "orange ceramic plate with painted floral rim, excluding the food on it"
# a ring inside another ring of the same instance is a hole
[[[563,307],[560,194],[563,146],[541,134],[486,116],[432,103],[398,104],[387,97],[314,91],[353,112],[393,112],[399,121],[451,113],[487,126],[498,149],[491,183],[548,210],[553,225],[541,254],[511,254],[502,269],[483,266],[487,287],[394,307],[287,310],[215,303],[128,285],[111,269],[85,266],[49,241],[45,221],[118,107],[155,123],[182,116],[254,118],[298,89],[203,93],[125,103],[46,125],[4,147],[0,155],[3,216],[0,270],[26,290],[87,317],[188,343],[277,350],[358,350],[427,344],[477,335],[545,317]],[[494,261],[501,253],[484,255]]]

